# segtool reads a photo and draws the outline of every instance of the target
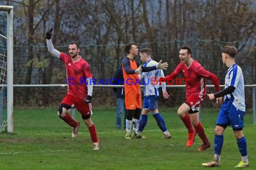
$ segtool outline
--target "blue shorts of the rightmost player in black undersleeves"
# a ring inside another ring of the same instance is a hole
[[[222,104],[216,124],[231,126],[233,129],[243,128],[245,112],[236,108],[231,100],[225,100]]]

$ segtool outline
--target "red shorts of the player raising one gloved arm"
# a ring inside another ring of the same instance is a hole
[[[92,104],[84,102],[83,99],[76,98],[71,94],[67,94],[65,98],[62,100],[62,103],[72,106],[75,105],[75,108],[80,112],[83,116],[93,115]]]

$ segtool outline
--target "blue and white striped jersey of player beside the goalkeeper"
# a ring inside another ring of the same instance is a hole
[[[151,66],[157,66],[158,62],[150,59],[148,60],[143,66],[144,67],[151,67]],[[144,96],[159,96],[159,82],[157,81],[157,78],[164,77],[163,70],[162,69],[156,69],[150,72],[142,72],[143,84],[144,87]],[[162,89],[163,91],[166,90],[165,82],[162,82]]]

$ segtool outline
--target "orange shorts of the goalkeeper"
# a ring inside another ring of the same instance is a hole
[[[128,110],[135,110],[137,108],[141,109],[141,92],[140,93],[131,93],[125,92],[124,97],[125,108]]]

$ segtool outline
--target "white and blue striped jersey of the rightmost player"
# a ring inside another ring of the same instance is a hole
[[[235,87],[235,90],[233,93],[225,95],[224,100],[230,99],[237,109],[245,111],[243,72],[237,64],[233,64],[228,69],[225,77],[225,88],[228,86]]]

